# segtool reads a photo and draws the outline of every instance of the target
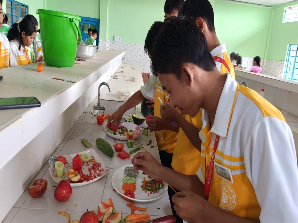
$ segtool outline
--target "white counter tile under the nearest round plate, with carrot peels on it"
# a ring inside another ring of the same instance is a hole
[[[117,191],[113,191],[114,187],[112,186],[112,176],[116,169],[110,169],[108,173],[108,178],[105,183],[105,190],[103,194],[102,202],[112,198],[114,207],[116,212],[122,211],[123,214],[130,214],[131,210],[128,206],[126,206],[127,201],[123,200],[121,196],[117,193]],[[135,202],[135,205],[138,207],[148,207],[146,210],[146,214],[156,215],[156,216],[167,216],[172,214],[172,209],[169,202],[169,195],[165,193],[162,198],[159,200],[151,201],[151,202]],[[157,208],[160,210],[157,210]],[[141,211],[136,211],[136,213],[141,214]]]

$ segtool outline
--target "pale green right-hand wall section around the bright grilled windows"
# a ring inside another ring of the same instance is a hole
[[[298,1],[291,1],[274,7],[266,59],[284,61],[288,44],[298,43],[298,21],[282,23],[285,7],[297,4]]]

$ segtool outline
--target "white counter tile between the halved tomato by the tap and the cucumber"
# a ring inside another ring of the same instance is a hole
[[[97,123],[81,122],[72,136],[70,136],[70,138],[87,140],[96,140],[97,138],[103,138],[107,142],[114,142],[114,138],[108,136],[103,128],[103,125],[98,125]]]

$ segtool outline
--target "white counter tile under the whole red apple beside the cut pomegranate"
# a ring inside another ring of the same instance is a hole
[[[103,196],[103,188],[105,186],[106,177],[92,182],[90,184],[72,187],[72,195],[65,202],[58,202],[54,198],[54,191],[57,183],[50,176],[49,171],[46,171],[42,177],[48,180],[48,188],[43,196],[39,198],[28,197],[22,205],[22,208],[35,209],[50,209],[50,210],[65,210],[65,211],[86,211],[87,209],[97,209],[97,205]],[[75,208],[75,204],[77,207]],[[49,211],[49,210],[47,210]]]

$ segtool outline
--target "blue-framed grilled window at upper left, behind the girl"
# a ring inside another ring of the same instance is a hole
[[[24,18],[28,14],[28,6],[14,0],[6,0],[7,25],[11,27],[13,23]]]

